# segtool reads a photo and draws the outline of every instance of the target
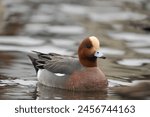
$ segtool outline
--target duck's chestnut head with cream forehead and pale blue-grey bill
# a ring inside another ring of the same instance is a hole
[[[80,63],[85,67],[96,67],[97,58],[105,59],[100,52],[100,42],[95,36],[88,37],[81,42],[78,56]]]

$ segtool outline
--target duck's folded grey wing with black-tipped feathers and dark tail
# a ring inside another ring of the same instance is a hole
[[[38,69],[46,69],[53,73],[71,74],[73,71],[81,69],[77,56],[63,56],[55,53],[44,54],[40,52],[36,52],[36,54],[37,58],[29,56],[36,71]]]

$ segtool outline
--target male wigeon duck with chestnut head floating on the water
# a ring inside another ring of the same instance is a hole
[[[35,52],[35,51],[34,51]],[[77,56],[44,54],[29,56],[40,83],[49,87],[74,91],[97,91],[107,87],[108,81],[97,66],[97,58],[103,58],[100,42],[94,37],[84,39]]]

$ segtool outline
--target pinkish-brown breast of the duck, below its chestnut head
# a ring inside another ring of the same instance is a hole
[[[104,73],[98,67],[86,68],[74,72],[66,83],[66,88],[79,91],[103,90],[108,81]]]

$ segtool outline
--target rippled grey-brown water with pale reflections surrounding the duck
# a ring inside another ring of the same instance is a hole
[[[149,0],[2,0],[0,99],[150,99]],[[37,83],[31,50],[76,54],[95,35],[107,56],[106,92],[72,92]]]

